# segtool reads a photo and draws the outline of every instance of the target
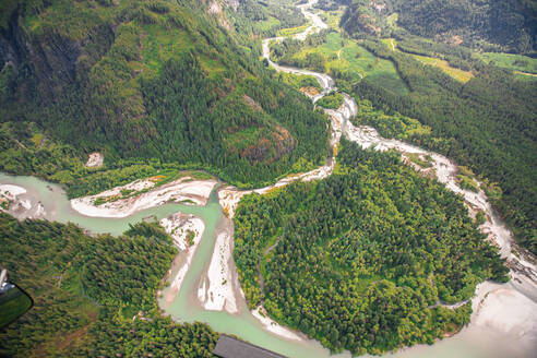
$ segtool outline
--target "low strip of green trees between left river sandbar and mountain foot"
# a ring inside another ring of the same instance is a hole
[[[0,170],[59,182],[67,189],[69,198],[96,194],[154,176],[159,178],[156,184],[184,175],[211,178],[207,174],[181,170],[189,166],[163,163],[156,158],[118,160],[87,168],[72,146],[44,135],[34,122],[5,122],[0,124]]]

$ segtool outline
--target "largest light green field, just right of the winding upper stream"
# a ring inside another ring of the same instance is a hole
[[[395,65],[383,60],[363,47],[357,41],[344,39],[338,33],[330,33],[326,36],[326,43],[317,47],[306,47],[295,55],[296,58],[306,58],[308,53],[318,52],[326,59],[327,72],[348,73],[353,81],[359,81],[360,77],[368,76],[382,83],[384,87],[397,94],[406,94],[408,90],[397,74]]]

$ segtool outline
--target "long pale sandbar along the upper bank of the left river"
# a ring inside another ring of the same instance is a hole
[[[96,195],[71,200],[71,207],[82,215],[95,217],[127,217],[138,211],[158,206],[168,202],[181,203],[191,201],[196,205],[205,205],[216,180],[192,180],[183,177],[136,196],[120,199],[95,206],[98,198],[119,194],[122,189],[143,190],[152,188],[151,180],[136,180],[130,184],[117,187]]]

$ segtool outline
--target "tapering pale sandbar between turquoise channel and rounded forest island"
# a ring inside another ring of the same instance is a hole
[[[231,252],[232,229],[227,226],[217,234],[206,277],[198,289],[198,299],[206,310],[238,312]]]

